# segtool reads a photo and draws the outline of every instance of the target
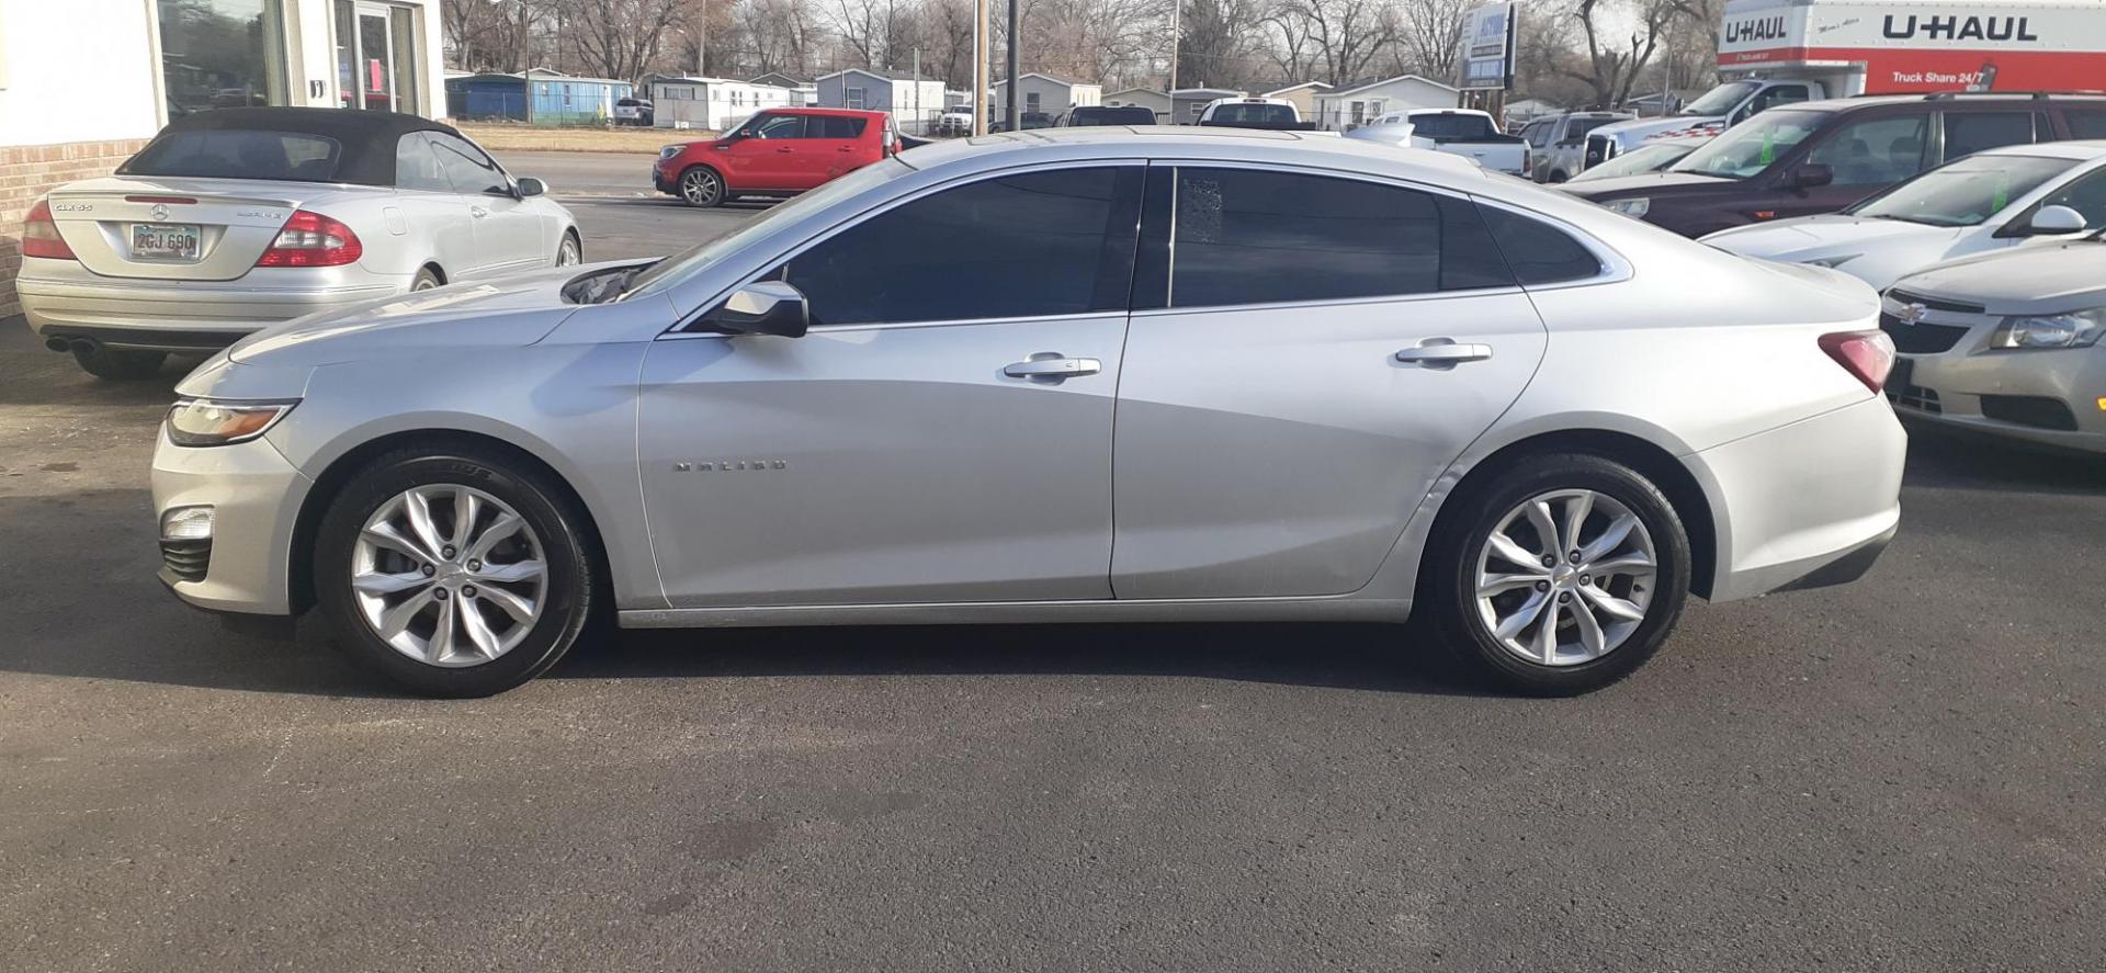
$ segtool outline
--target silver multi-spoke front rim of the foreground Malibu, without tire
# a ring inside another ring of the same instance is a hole
[[[352,596],[373,634],[428,666],[482,666],[541,619],[541,541],[505,501],[474,486],[394,495],[352,548]]]

